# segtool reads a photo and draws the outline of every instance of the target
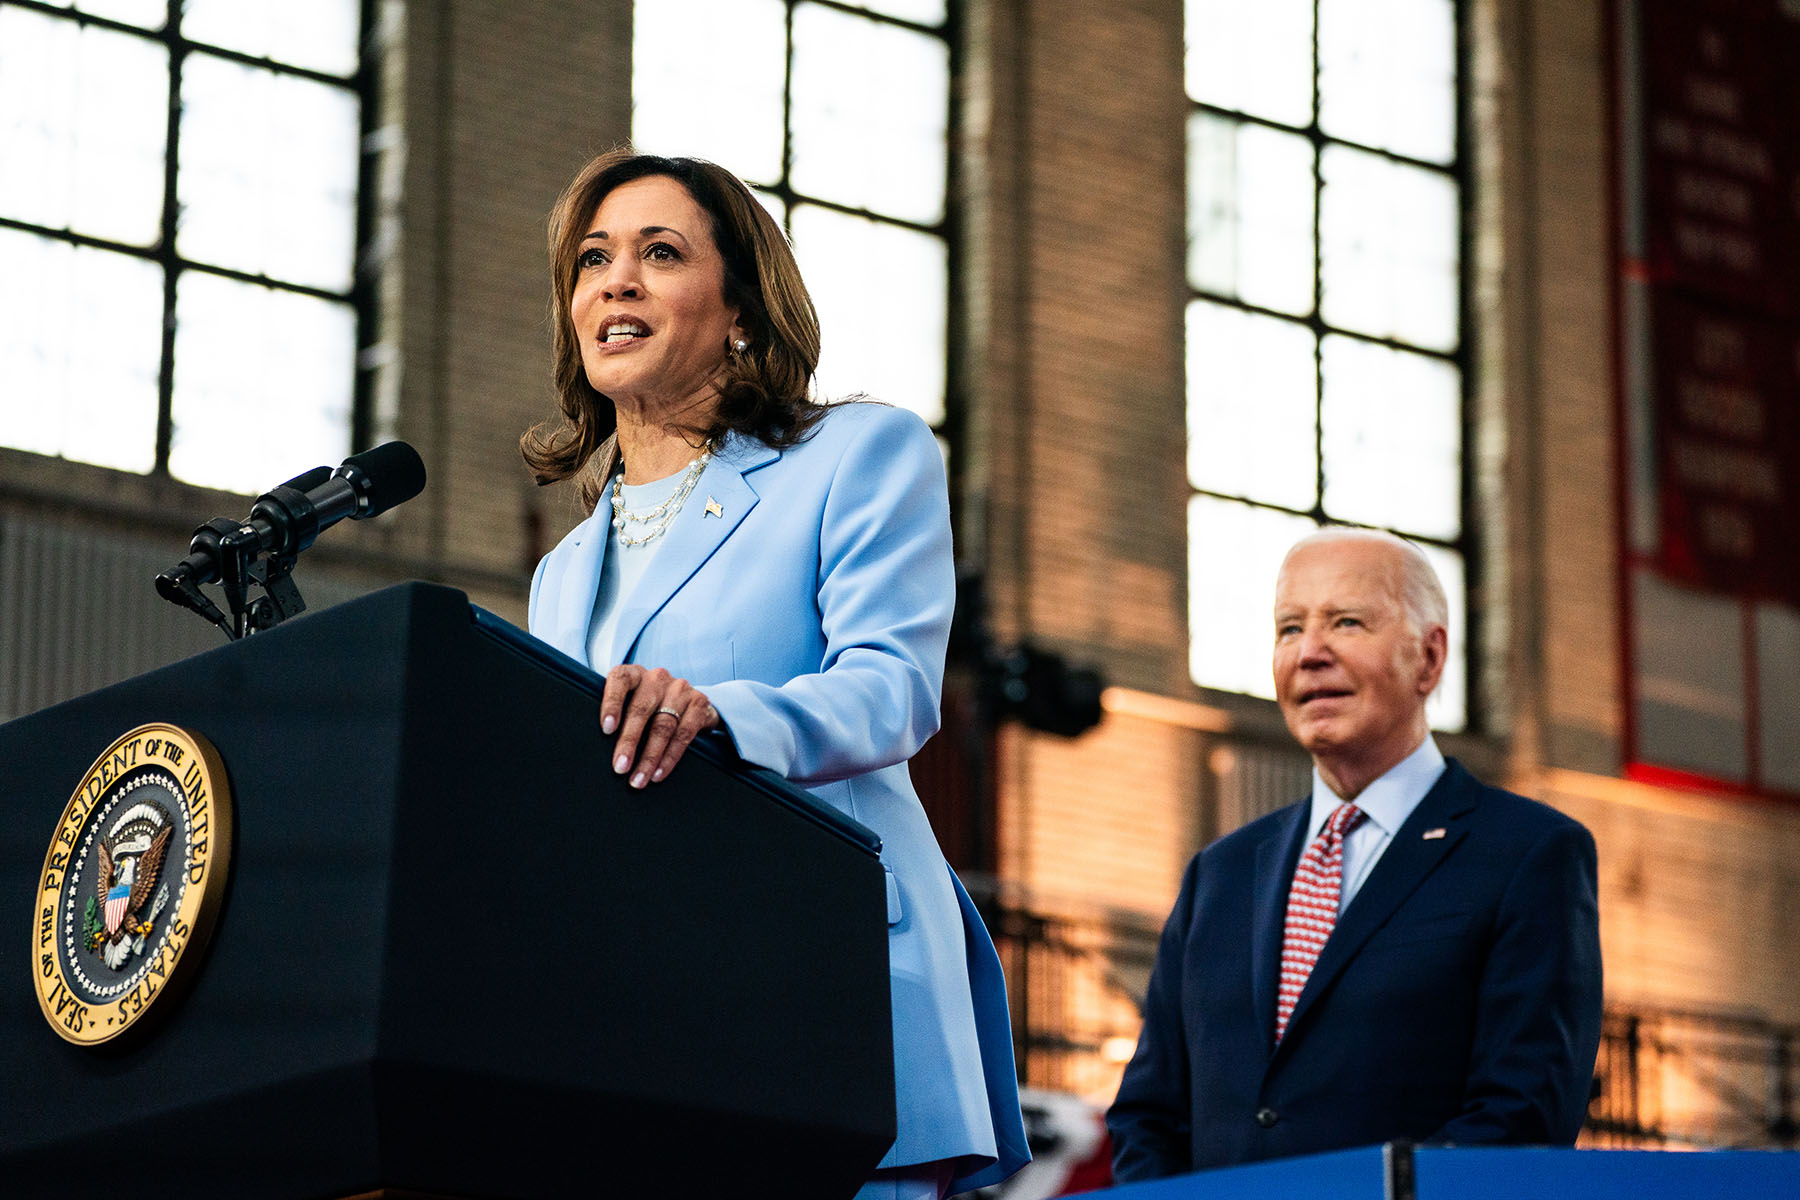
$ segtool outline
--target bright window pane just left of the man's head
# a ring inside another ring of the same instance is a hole
[[[1201,687],[1274,698],[1274,576],[1305,516],[1188,500],[1188,671]]]

